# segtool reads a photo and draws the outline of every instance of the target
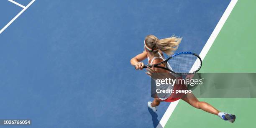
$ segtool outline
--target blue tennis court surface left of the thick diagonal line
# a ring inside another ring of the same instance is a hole
[[[0,1],[0,26],[22,9],[8,2]],[[36,0],[0,34],[0,119],[31,119],[31,128],[156,127],[169,103],[148,110],[150,78],[130,59],[148,34],[183,37],[177,52],[200,54],[229,2]]]

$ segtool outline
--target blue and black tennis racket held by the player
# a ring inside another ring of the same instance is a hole
[[[164,64],[165,67],[161,67],[159,65]],[[202,66],[202,60],[200,56],[198,56],[195,53],[192,52],[180,52],[177,54],[173,54],[171,57],[166,59],[165,61],[162,61],[159,64],[148,64],[144,65],[143,68],[147,67],[156,67],[168,70],[175,74],[194,74],[198,72]]]

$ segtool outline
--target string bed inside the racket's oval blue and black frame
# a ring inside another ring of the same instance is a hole
[[[168,61],[167,67],[177,73],[194,73],[201,67],[201,61],[193,54],[179,54]]]

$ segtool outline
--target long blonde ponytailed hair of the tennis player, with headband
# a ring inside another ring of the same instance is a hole
[[[178,38],[172,35],[169,38],[158,39],[154,35],[148,35],[145,38],[145,47],[154,56],[158,56],[158,50],[163,51],[167,55],[174,54],[174,51],[178,49],[179,43],[182,38]]]

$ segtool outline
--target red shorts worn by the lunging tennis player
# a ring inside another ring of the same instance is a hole
[[[178,79],[182,79],[182,77],[178,78]],[[185,84],[174,84],[174,87],[173,87],[173,90],[174,90],[174,93],[172,93],[170,95],[170,97],[168,97],[167,99],[165,100],[161,100],[161,101],[165,101],[165,102],[174,102],[176,100],[179,100],[181,99],[182,97],[184,97],[186,94],[185,93],[175,93],[176,90],[187,90],[187,86]]]

